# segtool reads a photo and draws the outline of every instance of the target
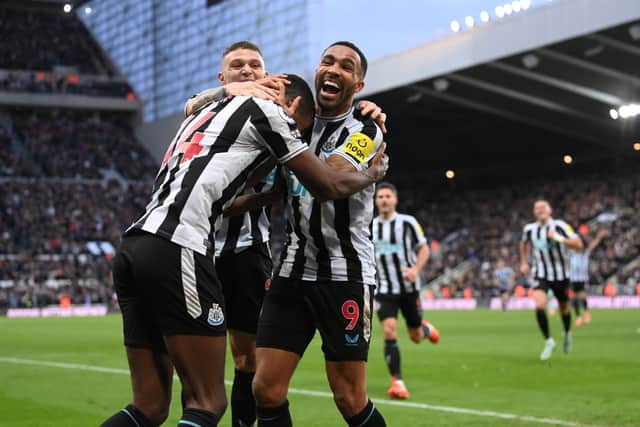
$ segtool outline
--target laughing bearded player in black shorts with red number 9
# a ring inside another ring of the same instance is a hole
[[[316,70],[318,115],[310,148],[336,170],[361,170],[382,145],[380,129],[352,107],[366,69],[360,49],[337,42],[323,52]],[[369,233],[374,186],[327,202],[292,172],[287,241],[258,323],[258,426],[292,425],[289,383],[316,329],[334,401],[347,424],[384,426],[366,387],[375,287]]]

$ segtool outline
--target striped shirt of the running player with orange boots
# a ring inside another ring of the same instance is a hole
[[[415,282],[404,279],[402,270],[416,264],[417,250],[427,243],[422,227],[411,215],[395,213],[389,219],[373,220],[373,243],[376,247],[378,295],[402,295],[420,290],[420,276]]]

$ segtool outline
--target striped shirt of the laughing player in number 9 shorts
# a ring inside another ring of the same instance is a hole
[[[338,117],[316,117],[310,148],[320,159],[338,155],[363,170],[382,144],[382,132],[352,108]],[[320,202],[289,171],[287,240],[276,275],[375,285],[374,185],[348,198]]]

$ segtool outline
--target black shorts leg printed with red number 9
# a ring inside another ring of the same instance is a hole
[[[325,360],[366,361],[374,287],[333,281],[305,283],[306,302],[322,336]]]

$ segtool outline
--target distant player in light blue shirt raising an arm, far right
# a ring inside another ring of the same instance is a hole
[[[576,326],[582,326],[582,313],[584,310],[584,322],[591,322],[591,313],[587,304],[587,285],[589,284],[589,257],[591,252],[607,237],[609,232],[602,228],[596,233],[589,245],[583,251],[570,252],[570,270],[569,278],[571,279],[571,288],[574,292],[573,308],[576,312]]]

